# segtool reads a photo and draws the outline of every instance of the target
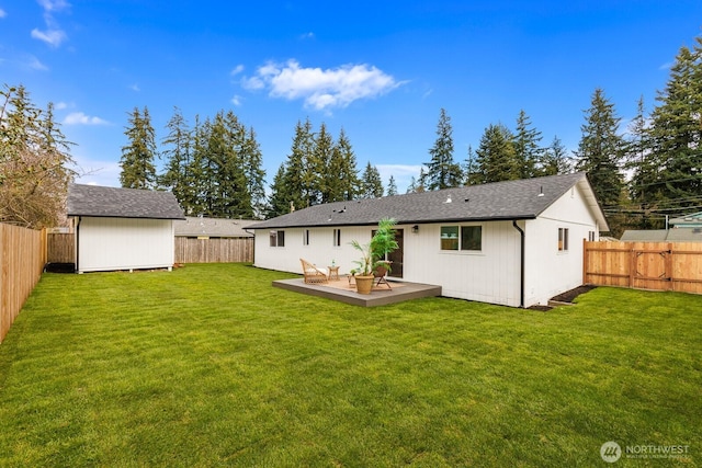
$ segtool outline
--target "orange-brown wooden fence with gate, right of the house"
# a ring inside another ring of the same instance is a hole
[[[585,241],[582,282],[702,294],[701,242]]]

